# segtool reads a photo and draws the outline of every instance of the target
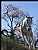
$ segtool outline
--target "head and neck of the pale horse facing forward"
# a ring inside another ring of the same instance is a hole
[[[31,30],[31,24],[32,24],[32,18],[33,17],[27,17],[23,20],[22,27],[26,28],[28,31]]]

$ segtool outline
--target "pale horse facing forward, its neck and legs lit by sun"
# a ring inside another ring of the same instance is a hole
[[[33,17],[26,16],[26,18],[23,20],[22,25],[21,25],[21,32],[22,32],[22,36],[23,36],[23,39],[24,39],[24,46],[26,45],[25,44],[26,39],[29,42],[32,41],[31,44],[28,42],[29,49],[30,49],[30,46],[33,44],[33,32],[32,32],[32,29],[31,29],[32,18]],[[26,39],[25,39],[24,35],[25,35]]]

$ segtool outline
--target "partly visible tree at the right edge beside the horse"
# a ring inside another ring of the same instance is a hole
[[[38,18],[36,18],[37,20],[35,20],[35,22],[33,22],[32,26],[34,27],[34,45],[35,47],[37,46],[37,43],[38,43]]]

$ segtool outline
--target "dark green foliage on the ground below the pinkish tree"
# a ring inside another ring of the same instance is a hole
[[[1,36],[1,50],[25,50],[25,47],[21,41]]]

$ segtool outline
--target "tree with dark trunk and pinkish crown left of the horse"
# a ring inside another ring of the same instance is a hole
[[[18,7],[14,7],[12,4],[7,4],[7,5],[4,4],[4,13],[1,16],[1,19],[4,19],[7,22],[7,25],[10,27],[10,29],[7,29],[7,30],[3,29],[1,33],[5,35],[4,34],[5,32],[7,34],[5,36],[14,37],[14,35],[16,34],[14,34],[14,31],[13,31],[13,21],[16,23],[15,27],[20,27],[26,15],[29,15],[29,14],[27,12],[23,12],[19,10]],[[9,20],[7,19],[10,20],[11,26],[9,25],[8,23]],[[8,31],[8,30],[11,30],[11,31]],[[8,33],[10,33],[10,35]]]

